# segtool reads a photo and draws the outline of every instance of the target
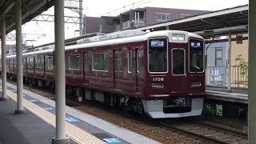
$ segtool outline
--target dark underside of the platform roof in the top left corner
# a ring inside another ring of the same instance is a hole
[[[21,0],[22,24],[54,6],[53,0]],[[0,15],[6,15],[6,34],[15,30],[15,1],[0,0]]]

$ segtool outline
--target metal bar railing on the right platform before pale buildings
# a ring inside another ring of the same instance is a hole
[[[228,66],[207,66],[206,86],[227,86]],[[248,87],[248,66],[230,66],[230,86]]]

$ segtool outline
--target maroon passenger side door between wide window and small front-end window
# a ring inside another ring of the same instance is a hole
[[[120,89],[122,50],[114,50],[114,89]]]

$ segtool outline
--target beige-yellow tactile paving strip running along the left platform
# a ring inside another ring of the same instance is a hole
[[[1,87],[2,90],[2,87]],[[17,101],[17,94],[13,93],[10,90],[6,90],[6,94],[12,98],[14,101]],[[56,127],[56,119],[55,115],[50,113],[49,111],[43,109],[40,106],[37,106],[33,102],[30,102],[26,100],[25,98],[23,99],[24,102],[24,107],[27,110],[30,110],[32,113],[36,114],[39,118],[42,118],[45,122],[49,123],[51,126]],[[72,125],[70,122],[66,122],[66,134],[74,140],[74,142],[78,143],[84,143],[84,144],[102,144],[106,143],[103,142],[102,140],[94,137],[94,135],[87,133],[86,131],[80,129],[78,126]]]

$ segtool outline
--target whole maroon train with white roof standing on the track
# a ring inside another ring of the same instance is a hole
[[[66,94],[145,112],[151,118],[202,114],[204,40],[178,30],[126,30],[66,46]],[[15,55],[6,57],[15,78]],[[54,89],[54,46],[23,56],[24,82]]]

